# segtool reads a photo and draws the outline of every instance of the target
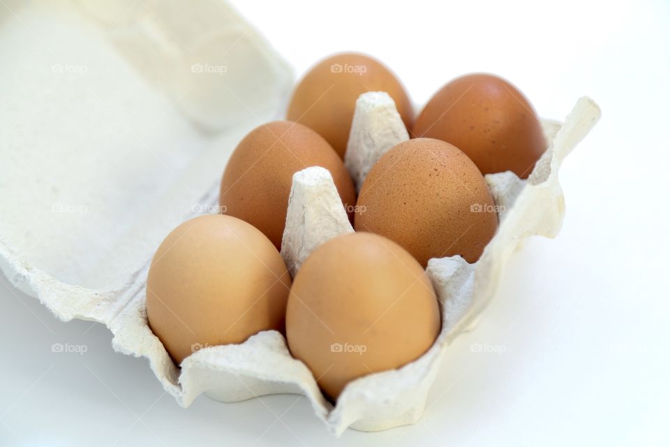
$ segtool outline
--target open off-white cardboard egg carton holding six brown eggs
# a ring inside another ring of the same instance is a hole
[[[25,81],[29,84],[27,91],[36,91],[38,96],[26,97],[22,92],[3,98],[6,108],[2,110],[13,114],[0,116],[8,129],[13,129],[8,131],[8,147],[21,148],[0,151],[3,173],[10,180],[15,179],[0,185],[0,206],[3,210],[22,210],[0,222],[0,268],[6,277],[25,293],[37,297],[61,320],[78,318],[106,325],[114,335],[114,350],[147,358],[157,379],[181,406],[188,406],[202,393],[223,402],[295,393],[306,395],[316,416],[336,435],[347,427],[374,431],[415,423],[424,409],[442,353],[458,335],[472,328],[491,301],[509,256],[531,235],[554,237],[558,233],[565,211],[558,170],[565,156],[597,122],[597,105],[590,98],[581,98],[564,123],[542,120],[548,149],[527,180],[513,173],[486,175],[496,204],[505,210],[500,214],[495,237],[477,263],[468,264],[459,256],[452,256],[431,259],[426,268],[442,312],[442,330],[435,344],[404,367],[352,381],[333,406],[320,393],[306,366],[290,356],[279,332],[260,332],[237,345],[203,347],[186,358],[179,369],[149,329],[144,309],[144,288],[153,251],[181,221],[216,208],[218,181],[230,152],[247,131],[278,117],[285,108],[292,85],[290,69],[258,32],[225,3],[210,8],[209,3],[203,2],[189,8],[189,15],[184,16],[176,1],[165,1],[163,6],[148,2],[154,9],[142,16],[140,22],[144,26],[137,26],[137,16],[126,17],[127,28],[121,22],[121,29],[127,32],[120,35],[118,28],[112,34],[105,30],[105,24],[119,23],[118,10],[110,8],[123,10],[123,5],[112,7],[110,3],[87,2],[83,12],[81,7],[73,6],[58,11],[56,20],[50,10],[53,7],[44,6],[33,15],[21,11],[17,19],[28,25],[25,29],[38,29],[39,16],[47,10],[50,14],[43,15],[50,20],[50,26],[61,24],[61,39],[69,39],[65,43],[71,45],[64,46],[80,48],[89,57],[89,69],[104,69],[111,73],[114,84],[131,89],[126,96],[124,91],[113,89],[107,93],[111,81],[96,78],[87,87],[103,97],[91,98],[82,96],[80,80],[71,86],[66,84],[52,101],[82,103],[80,112],[69,111],[70,119],[78,120],[86,129],[98,129],[96,126],[118,117],[131,101],[133,119],[148,127],[149,135],[168,132],[170,138],[151,140],[154,145],[145,147],[149,152],[161,151],[161,161],[157,162],[155,156],[140,155],[144,152],[138,149],[116,166],[115,151],[124,143],[131,145],[135,135],[107,145],[102,143],[108,137],[104,133],[91,141],[81,135],[77,138],[84,140],[61,135],[57,131],[63,122],[59,109],[47,120],[53,128],[44,129],[42,134],[22,132],[43,124],[31,120],[30,113],[33,99],[46,101],[39,95],[49,79],[34,73],[34,79]],[[165,4],[173,8],[166,8]],[[32,3],[29,7],[36,8]],[[90,24],[82,15],[93,15],[98,23]],[[176,43],[165,43],[170,38],[174,40],[174,29],[164,29],[162,37],[156,38],[161,27],[173,23],[179,24],[177,40],[191,46],[188,54],[180,56],[175,52]],[[10,36],[21,37],[26,32],[22,29],[17,27]],[[156,43],[147,47],[151,39]],[[144,47],[135,47],[133,42]],[[216,59],[222,57],[216,50],[222,45],[234,45],[239,52],[228,54],[223,61]],[[152,59],[138,64],[144,60],[138,55],[142,48],[147,50],[144,57],[151,54]],[[12,42],[0,41],[0,54],[6,51],[13,51]],[[22,64],[34,66],[34,61],[25,59],[28,53],[16,54],[14,64],[2,69],[18,70]],[[193,54],[200,56],[193,59]],[[225,101],[225,107],[212,110],[207,92],[216,94],[222,87],[217,78],[198,78],[200,94],[177,104],[174,110],[174,101],[165,97],[174,98],[186,91],[189,78],[182,70],[181,76],[158,82],[161,67],[193,70],[193,64],[227,64],[240,71],[265,73],[267,100],[255,96],[252,87],[244,84],[244,77],[237,78],[233,80],[237,84],[233,85],[232,94],[253,104],[254,112],[240,117],[232,112],[239,105]],[[160,91],[147,88],[147,80],[157,84]],[[283,100],[276,103],[276,98]],[[94,122],[89,111],[96,110],[100,101],[120,109],[112,109]],[[165,115],[167,125],[154,124],[151,118],[156,112]],[[212,120],[212,114],[219,119]],[[193,124],[209,129],[209,134],[193,133]],[[86,135],[89,134],[94,135],[95,131]],[[357,185],[381,154],[407,138],[387,95],[375,92],[359,98],[345,160]],[[87,152],[91,145],[96,149]],[[45,152],[45,147],[49,152]],[[177,171],[175,166],[167,169],[161,164],[170,159],[177,159],[179,166],[186,167]],[[104,187],[98,184],[101,176]],[[73,197],[79,201],[68,202]],[[31,207],[27,208],[27,203]],[[47,211],[45,217],[44,210],[49,208],[52,212]],[[77,210],[80,215],[73,216]],[[97,249],[82,242],[91,229],[94,235],[89,235],[87,241],[92,241]],[[327,170],[313,167],[296,173],[281,249],[292,274],[319,244],[351,231]],[[49,244],[42,244],[43,241]],[[114,249],[105,251],[101,247]]]

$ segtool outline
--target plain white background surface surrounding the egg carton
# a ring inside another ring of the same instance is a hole
[[[594,98],[602,121],[560,175],[562,233],[512,258],[419,423],[341,439],[293,395],[181,409],[103,326],[56,321],[0,277],[0,446],[669,445],[669,3],[234,3],[298,74],[359,50],[419,104],[470,71],[512,80],[543,117]]]

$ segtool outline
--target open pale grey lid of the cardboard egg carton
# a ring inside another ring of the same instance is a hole
[[[30,295],[38,271],[101,301],[128,291],[163,237],[217,202],[237,142],[281,115],[292,86],[225,3],[113,3],[1,17],[3,270]],[[84,316],[76,302],[49,304],[69,319]]]

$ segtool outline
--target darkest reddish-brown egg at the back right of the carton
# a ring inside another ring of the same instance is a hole
[[[546,149],[533,106],[502,78],[477,74],[442,87],[417,118],[416,137],[452,143],[483,174],[511,170],[525,179]]]

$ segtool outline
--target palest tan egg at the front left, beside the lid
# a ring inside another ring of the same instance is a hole
[[[204,346],[283,330],[291,279],[259,230],[200,216],[165,237],[147,278],[147,319],[177,365]]]

